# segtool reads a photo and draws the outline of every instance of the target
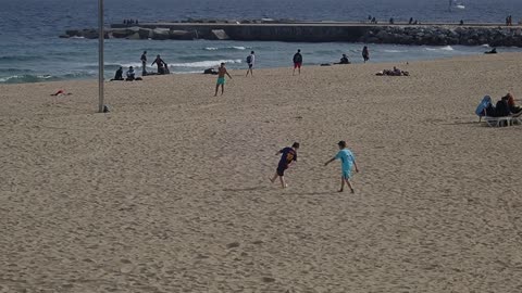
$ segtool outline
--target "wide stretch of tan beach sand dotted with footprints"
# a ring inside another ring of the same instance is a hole
[[[0,292],[522,292],[521,56],[0,86]]]

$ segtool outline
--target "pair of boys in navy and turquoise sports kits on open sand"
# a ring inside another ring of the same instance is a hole
[[[340,161],[340,189],[339,192],[344,192],[345,184],[348,186],[351,193],[355,193],[353,184],[351,183],[350,179],[352,178],[352,169],[355,168],[356,173],[359,173],[359,167],[356,163],[356,156],[353,153],[348,149],[346,141],[339,141],[337,143],[339,148],[339,152],[324,163],[324,166],[330,165],[332,162],[339,160]],[[287,188],[288,184],[285,180],[285,171],[289,168],[289,166],[297,162],[297,151],[299,150],[300,144],[299,142],[294,142],[291,146],[284,148],[279,150],[276,155],[281,154],[279,163],[277,164],[277,168],[275,169],[274,176],[270,179],[272,183],[275,182],[277,178],[279,178],[281,187],[283,189]]]

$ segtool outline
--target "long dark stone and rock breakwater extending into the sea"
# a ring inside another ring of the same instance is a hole
[[[520,26],[370,25],[345,23],[149,23],[112,25],[104,37],[153,40],[345,41],[397,44],[522,47]],[[63,38],[98,38],[96,29],[67,30]]]

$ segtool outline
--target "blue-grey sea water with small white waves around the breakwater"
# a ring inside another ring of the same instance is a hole
[[[140,22],[194,18],[296,18],[303,21],[364,21],[368,15],[386,21],[490,22],[506,15],[522,18],[522,1],[470,0],[465,10],[448,11],[439,0],[104,0],[105,22],[124,18]],[[59,39],[65,29],[96,27],[97,0],[0,0],[0,84],[95,78],[98,73],[97,40]],[[261,41],[154,41],[111,39],[105,42],[105,72],[110,78],[119,66],[141,71],[142,51],[151,61],[157,54],[171,73],[201,73],[226,62],[232,69],[245,68],[250,51],[257,67],[291,65],[297,49],[304,64],[337,62],[343,53],[353,63],[362,62],[362,43],[291,43]],[[423,47],[370,44],[372,62],[396,62],[481,54],[485,47]],[[500,52],[522,51],[498,48]],[[153,68],[148,68],[152,71]]]

